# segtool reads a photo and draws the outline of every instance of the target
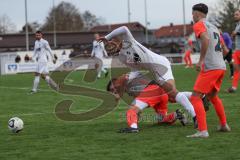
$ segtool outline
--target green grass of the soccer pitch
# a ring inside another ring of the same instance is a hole
[[[114,72],[115,73],[115,72]],[[191,91],[197,73],[183,66],[173,67],[177,88]],[[107,80],[92,83],[82,82],[83,72],[74,72],[66,80],[72,85],[83,85],[105,89]],[[1,160],[153,160],[153,159],[240,159],[240,93],[227,94],[230,86],[228,73],[222,85],[220,97],[225,105],[230,133],[216,131],[218,119],[211,107],[207,113],[210,137],[208,139],[188,139],[192,125],[182,127],[158,126],[151,121],[140,122],[139,134],[119,134],[116,131],[125,127],[122,115],[127,105],[121,102],[118,107],[104,117],[88,122],[67,122],[54,114],[55,104],[63,99],[75,101],[73,113],[89,110],[100,103],[97,99],[83,96],[58,94],[51,91],[42,81],[39,93],[27,95],[32,86],[32,74],[0,76],[0,159]],[[180,106],[170,104],[169,111]],[[153,114],[146,109],[143,114]],[[12,134],[7,121],[18,116],[23,119],[25,128],[19,134]]]

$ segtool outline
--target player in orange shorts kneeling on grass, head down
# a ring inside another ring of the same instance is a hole
[[[155,110],[160,124],[173,124],[176,120],[180,120],[183,125],[187,123],[187,118],[181,110],[167,113],[168,95],[156,82],[147,79],[141,72],[130,72],[113,78],[107,85],[107,91],[112,92],[117,100],[124,92],[135,98],[126,113],[128,128],[121,129],[120,133],[139,132],[138,114],[147,107]]]

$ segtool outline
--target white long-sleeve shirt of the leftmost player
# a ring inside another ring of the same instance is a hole
[[[40,40],[35,41],[34,45],[34,53],[32,59],[36,60],[40,63],[48,62],[48,57],[54,59],[54,56],[52,54],[52,50],[48,44],[48,41],[41,38]]]

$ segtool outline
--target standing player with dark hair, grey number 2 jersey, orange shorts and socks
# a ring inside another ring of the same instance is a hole
[[[196,4],[192,8],[193,20],[195,22],[193,30],[201,46],[200,59],[196,64],[196,69],[200,71],[200,73],[195,81],[194,91],[190,98],[198,121],[198,132],[187,136],[192,138],[209,137],[206,112],[201,101],[203,94],[207,95],[216,110],[220,121],[218,131],[230,131],[224,106],[217,95],[226,70],[226,65],[223,60],[221,38],[217,27],[206,20],[207,13],[208,7],[203,3]]]

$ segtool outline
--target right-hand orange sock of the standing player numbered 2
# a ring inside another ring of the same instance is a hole
[[[224,106],[222,104],[221,99],[218,96],[215,96],[215,97],[211,98],[210,101],[212,102],[212,104],[215,108],[215,111],[218,115],[221,125],[225,125],[227,120],[226,120]]]

